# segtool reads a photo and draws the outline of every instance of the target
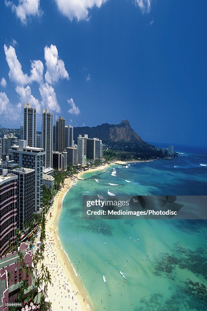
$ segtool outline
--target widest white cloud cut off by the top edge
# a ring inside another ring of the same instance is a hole
[[[59,11],[67,16],[70,21],[75,17],[78,21],[89,20],[88,9],[97,6],[101,7],[107,0],[56,0]]]

